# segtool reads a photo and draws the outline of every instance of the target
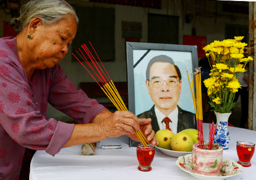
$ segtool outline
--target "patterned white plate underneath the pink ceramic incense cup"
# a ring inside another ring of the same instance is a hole
[[[225,157],[223,157],[223,165],[225,166],[221,167],[221,171],[225,172],[225,174],[221,173],[219,176],[207,176],[207,175],[195,174],[193,172],[191,154],[180,156],[176,161],[176,164],[177,166],[180,167],[180,169],[189,173],[191,176],[199,180],[222,180],[222,179],[226,179],[228,177],[232,177],[234,175],[240,174],[243,170],[243,166],[238,164],[236,161],[227,159]]]

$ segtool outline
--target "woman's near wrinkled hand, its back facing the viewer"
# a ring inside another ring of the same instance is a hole
[[[134,134],[139,130],[139,119],[130,111],[115,111],[111,116],[99,123],[99,132],[105,138]]]

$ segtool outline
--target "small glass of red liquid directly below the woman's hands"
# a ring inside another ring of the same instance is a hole
[[[138,169],[140,171],[151,171],[151,163],[155,156],[155,146],[147,145],[144,147],[143,144],[137,145],[137,159],[139,161]]]

